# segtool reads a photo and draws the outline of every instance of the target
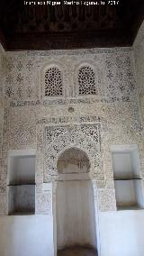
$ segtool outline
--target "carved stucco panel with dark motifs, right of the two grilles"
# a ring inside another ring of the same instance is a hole
[[[136,95],[136,80],[130,54],[107,55],[106,64],[106,94],[112,101],[120,99],[130,101]]]

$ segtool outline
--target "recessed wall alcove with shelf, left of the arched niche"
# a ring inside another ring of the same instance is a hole
[[[35,212],[35,159],[32,151],[12,151],[8,158],[8,214]]]

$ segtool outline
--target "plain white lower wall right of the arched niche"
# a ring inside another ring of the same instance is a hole
[[[99,222],[100,256],[144,255],[144,210],[103,212]]]

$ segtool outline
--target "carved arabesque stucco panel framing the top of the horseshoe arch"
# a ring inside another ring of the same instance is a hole
[[[91,160],[90,175],[102,178],[99,128],[99,123],[46,127],[44,182],[48,182],[52,177],[57,179],[58,156],[67,148],[85,151]]]

